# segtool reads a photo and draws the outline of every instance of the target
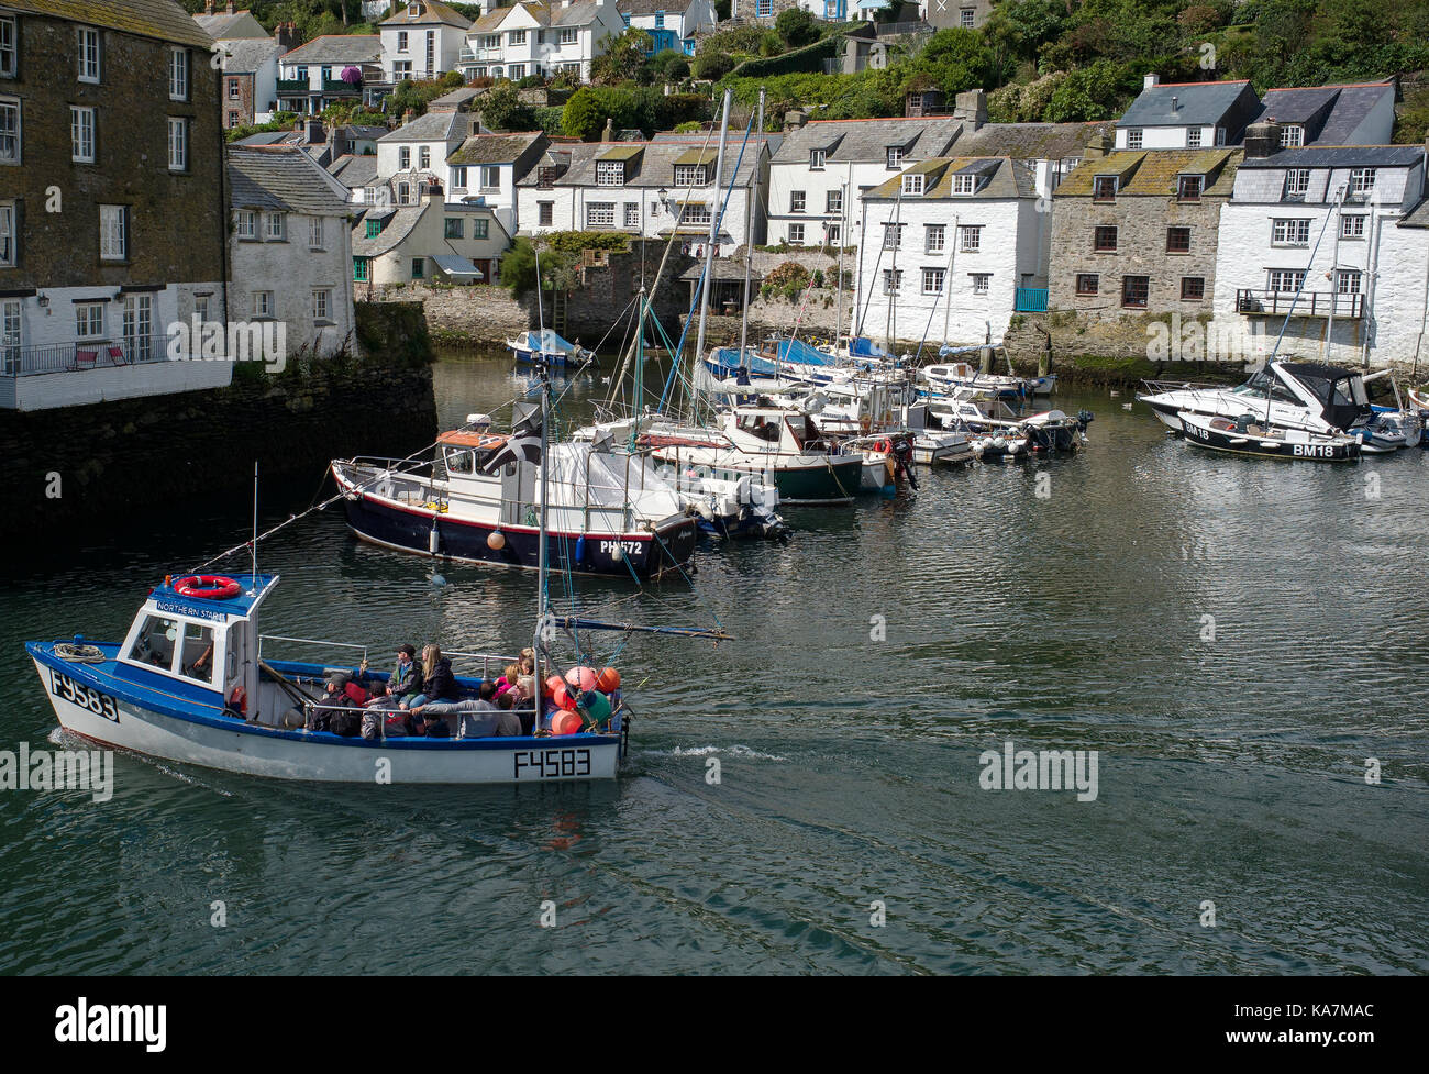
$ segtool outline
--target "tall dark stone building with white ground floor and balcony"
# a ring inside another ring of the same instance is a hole
[[[0,407],[231,377],[159,364],[170,326],[227,320],[211,41],[166,0],[74,7],[0,9]]]

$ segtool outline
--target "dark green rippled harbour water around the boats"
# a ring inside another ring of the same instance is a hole
[[[447,356],[436,386],[447,427],[524,381]],[[613,657],[637,711],[614,784],[324,787],[121,756],[103,804],[0,793],[0,970],[1429,971],[1429,453],[1219,457],[1130,397],[1056,398],[1096,413],[1070,458],[787,510],[787,546],[700,551],[693,591],[583,584],[596,614],[736,638]],[[263,524],[319,477],[264,488]],[[196,504],[11,550],[0,748],[54,733],[21,641],[114,638],[156,580],[244,538],[244,497]],[[529,576],[436,576],[354,543],[336,506],[259,566],[283,576],[264,630],[377,666],[402,641],[516,651],[534,614]],[[1007,743],[1095,750],[1095,800],[985,790]]]

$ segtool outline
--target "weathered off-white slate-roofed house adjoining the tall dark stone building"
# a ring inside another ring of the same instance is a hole
[[[234,321],[277,321],[287,357],[356,348],[347,191],[292,146],[227,150]]]

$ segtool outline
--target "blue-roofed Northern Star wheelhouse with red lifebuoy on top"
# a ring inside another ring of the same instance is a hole
[[[236,583],[237,591],[219,584]],[[184,583],[189,583],[187,586]],[[276,574],[164,578],[150,591],[119,650],[116,674],[150,688],[244,713],[259,688],[256,613]],[[200,596],[194,596],[200,594]],[[203,596],[210,594],[210,596]]]

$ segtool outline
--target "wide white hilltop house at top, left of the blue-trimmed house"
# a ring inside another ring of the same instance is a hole
[[[510,79],[574,71],[590,80],[590,61],[624,31],[613,0],[552,0],[487,11],[472,24],[460,69],[473,77]]]

